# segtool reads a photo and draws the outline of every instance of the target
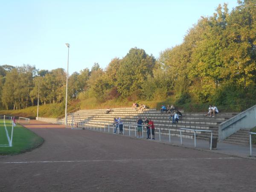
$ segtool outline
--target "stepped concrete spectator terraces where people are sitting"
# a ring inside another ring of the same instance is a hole
[[[218,113],[215,117],[204,116],[203,113],[183,113],[177,124],[172,124],[169,120],[169,113],[160,113],[156,109],[146,109],[145,111],[136,111],[132,108],[116,108],[113,112],[106,114],[106,109],[98,110],[79,110],[73,113],[74,121],[96,121],[96,122],[109,122],[113,123],[114,117],[121,117],[126,124],[135,124],[136,120],[141,116],[151,118],[154,121],[156,128],[160,127],[161,134],[169,134],[169,128],[172,136],[180,137],[179,128],[189,128],[197,130],[212,130],[213,137],[218,137],[218,125],[221,122],[230,119],[237,113]],[[72,116],[68,116],[69,120],[72,120]],[[93,123],[93,122],[91,122]],[[104,123],[99,126],[104,126]],[[127,128],[127,127],[124,127]],[[131,127],[132,128],[132,127]],[[134,128],[134,127],[133,127]],[[194,137],[193,131],[183,131],[183,137],[192,139]],[[197,138],[209,139],[210,133],[200,131],[197,133]]]

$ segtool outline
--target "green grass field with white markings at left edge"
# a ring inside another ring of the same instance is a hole
[[[8,138],[6,130],[8,131],[9,138],[12,134],[12,123],[10,120],[5,121],[6,129],[3,119],[0,120],[0,145],[8,145]],[[0,155],[6,154],[18,154],[24,151],[28,151],[32,148],[41,145],[44,140],[38,135],[34,134],[27,128],[16,124],[13,130],[12,147],[0,147]]]

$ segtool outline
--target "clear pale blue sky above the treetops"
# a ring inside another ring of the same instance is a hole
[[[0,65],[30,64],[69,74],[137,47],[158,58],[183,42],[201,16],[237,0],[0,0]]]

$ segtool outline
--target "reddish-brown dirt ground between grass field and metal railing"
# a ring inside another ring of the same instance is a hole
[[[0,157],[0,192],[256,190],[255,160],[44,122],[24,126],[45,142]]]

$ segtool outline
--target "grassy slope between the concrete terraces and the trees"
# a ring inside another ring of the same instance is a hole
[[[197,104],[189,102],[186,104],[179,104],[175,102],[175,97],[171,96],[164,100],[154,100],[154,101],[145,101],[145,100],[134,100],[139,104],[144,103],[149,108],[160,109],[161,105],[171,105],[174,104],[177,109],[183,109],[186,112],[207,112],[209,104]],[[105,109],[105,108],[122,108],[122,107],[131,107],[132,102],[127,99],[112,99],[106,102],[99,102],[96,98],[82,98],[76,100],[68,101],[67,111],[71,111],[75,108],[81,107],[81,109]],[[221,112],[235,112],[236,110],[230,110],[230,108],[217,106]],[[57,118],[65,113],[65,103],[55,103],[39,106],[39,116],[41,117],[52,117]],[[32,106],[26,109],[21,110],[2,110],[0,115],[12,115],[12,116],[22,116],[30,119],[35,119],[37,115],[37,106]]]

